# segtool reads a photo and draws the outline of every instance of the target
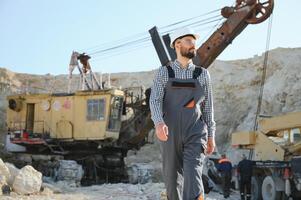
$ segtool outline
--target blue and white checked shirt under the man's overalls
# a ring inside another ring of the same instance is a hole
[[[180,67],[179,61],[174,61],[171,64],[171,68],[175,72],[175,78],[189,79],[193,77],[193,71],[195,65],[190,63],[186,69]],[[152,113],[152,120],[155,125],[163,121],[162,104],[164,97],[164,88],[168,81],[168,70],[165,66],[159,68],[152,87],[150,97],[150,109]],[[210,74],[208,70],[203,68],[201,75],[198,77],[198,81],[202,88],[204,88],[205,100],[202,102],[201,112],[203,120],[208,127],[208,137],[215,136],[215,121],[213,110],[213,98],[212,98],[212,86],[210,81]]]

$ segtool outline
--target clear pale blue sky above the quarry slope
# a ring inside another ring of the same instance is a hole
[[[298,25],[301,1],[274,1],[270,49],[301,47]],[[219,10],[234,2],[0,0],[0,67],[20,73],[67,74],[71,53],[78,51],[91,55],[90,63],[95,72],[153,70],[160,66],[160,61],[147,40],[149,29],[157,26],[162,34],[176,28],[170,26],[173,23],[190,18],[193,19],[188,22],[203,20],[204,23],[194,27],[201,35],[200,45],[222,22]],[[268,21],[248,25],[217,59],[261,55],[266,48]],[[142,43],[131,43],[143,38]],[[104,51],[127,42],[123,48]]]

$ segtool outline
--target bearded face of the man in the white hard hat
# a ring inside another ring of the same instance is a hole
[[[193,58],[196,55],[195,39],[192,36],[186,36],[179,39],[180,53],[183,57]]]

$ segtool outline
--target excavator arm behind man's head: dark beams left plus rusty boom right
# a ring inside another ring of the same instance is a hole
[[[208,68],[248,24],[263,22],[271,15],[273,8],[274,0],[237,0],[235,6],[224,7],[221,14],[226,18],[225,22],[197,49],[194,64]],[[166,36],[161,39],[156,27],[149,32],[161,64],[166,65],[174,60],[175,56],[171,53],[173,49],[166,45],[170,39]]]

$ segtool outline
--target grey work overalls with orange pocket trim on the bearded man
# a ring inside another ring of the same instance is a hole
[[[168,66],[168,82],[163,101],[163,119],[168,126],[166,142],[161,142],[163,176],[169,200],[195,200],[203,197],[202,170],[207,127],[201,119],[204,91],[197,77],[175,78]]]

